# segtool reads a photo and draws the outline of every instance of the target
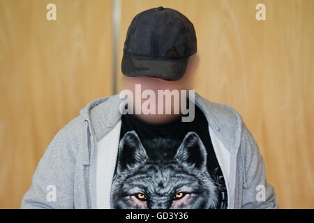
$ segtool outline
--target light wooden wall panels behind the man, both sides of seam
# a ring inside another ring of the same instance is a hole
[[[112,94],[112,1],[54,0],[47,21],[51,2],[0,0],[0,208],[20,206],[54,134]],[[121,0],[119,66],[130,20],[158,6],[195,25],[195,90],[243,116],[280,208],[314,208],[314,1]]]

